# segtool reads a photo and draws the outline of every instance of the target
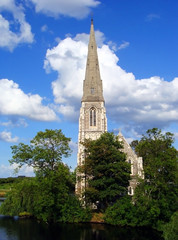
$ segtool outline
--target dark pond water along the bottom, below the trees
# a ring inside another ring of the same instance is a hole
[[[102,224],[45,224],[0,216],[0,240],[161,240],[150,229]]]

